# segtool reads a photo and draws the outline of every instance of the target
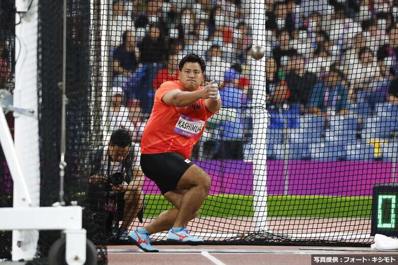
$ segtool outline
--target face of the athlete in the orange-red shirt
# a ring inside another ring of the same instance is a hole
[[[195,91],[201,86],[204,77],[205,74],[202,73],[199,63],[186,62],[180,72],[179,80],[186,91]]]

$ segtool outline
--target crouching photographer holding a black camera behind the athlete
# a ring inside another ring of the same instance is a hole
[[[142,223],[145,196],[139,157],[139,147],[123,129],[113,131],[108,144],[88,157],[93,222],[105,226],[108,240],[126,240],[134,219]]]

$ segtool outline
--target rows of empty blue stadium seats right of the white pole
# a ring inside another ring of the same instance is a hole
[[[370,113],[366,104],[357,107],[348,115],[330,116],[328,128],[322,117],[269,111],[267,158],[393,161],[398,106],[380,103]]]

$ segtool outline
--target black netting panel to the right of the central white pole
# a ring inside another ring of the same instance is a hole
[[[271,227],[369,244],[372,187],[396,181],[396,4],[287,1],[267,14]]]

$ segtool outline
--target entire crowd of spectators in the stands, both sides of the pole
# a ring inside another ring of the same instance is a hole
[[[144,121],[156,89],[164,81],[177,80],[177,63],[193,52],[206,60],[206,81],[215,80],[220,94],[228,95],[223,108],[250,104],[253,26],[247,4],[115,1],[113,86],[122,88],[125,101],[141,103]],[[268,111],[320,116],[328,127],[331,116],[358,112],[358,104],[369,113],[380,104],[394,104],[397,14],[398,4],[392,0],[266,0],[263,60]],[[242,109],[235,118],[220,121],[218,135],[212,137],[250,138],[251,129],[240,124],[241,119],[250,119],[250,112]],[[231,133],[237,129],[247,134]]]

